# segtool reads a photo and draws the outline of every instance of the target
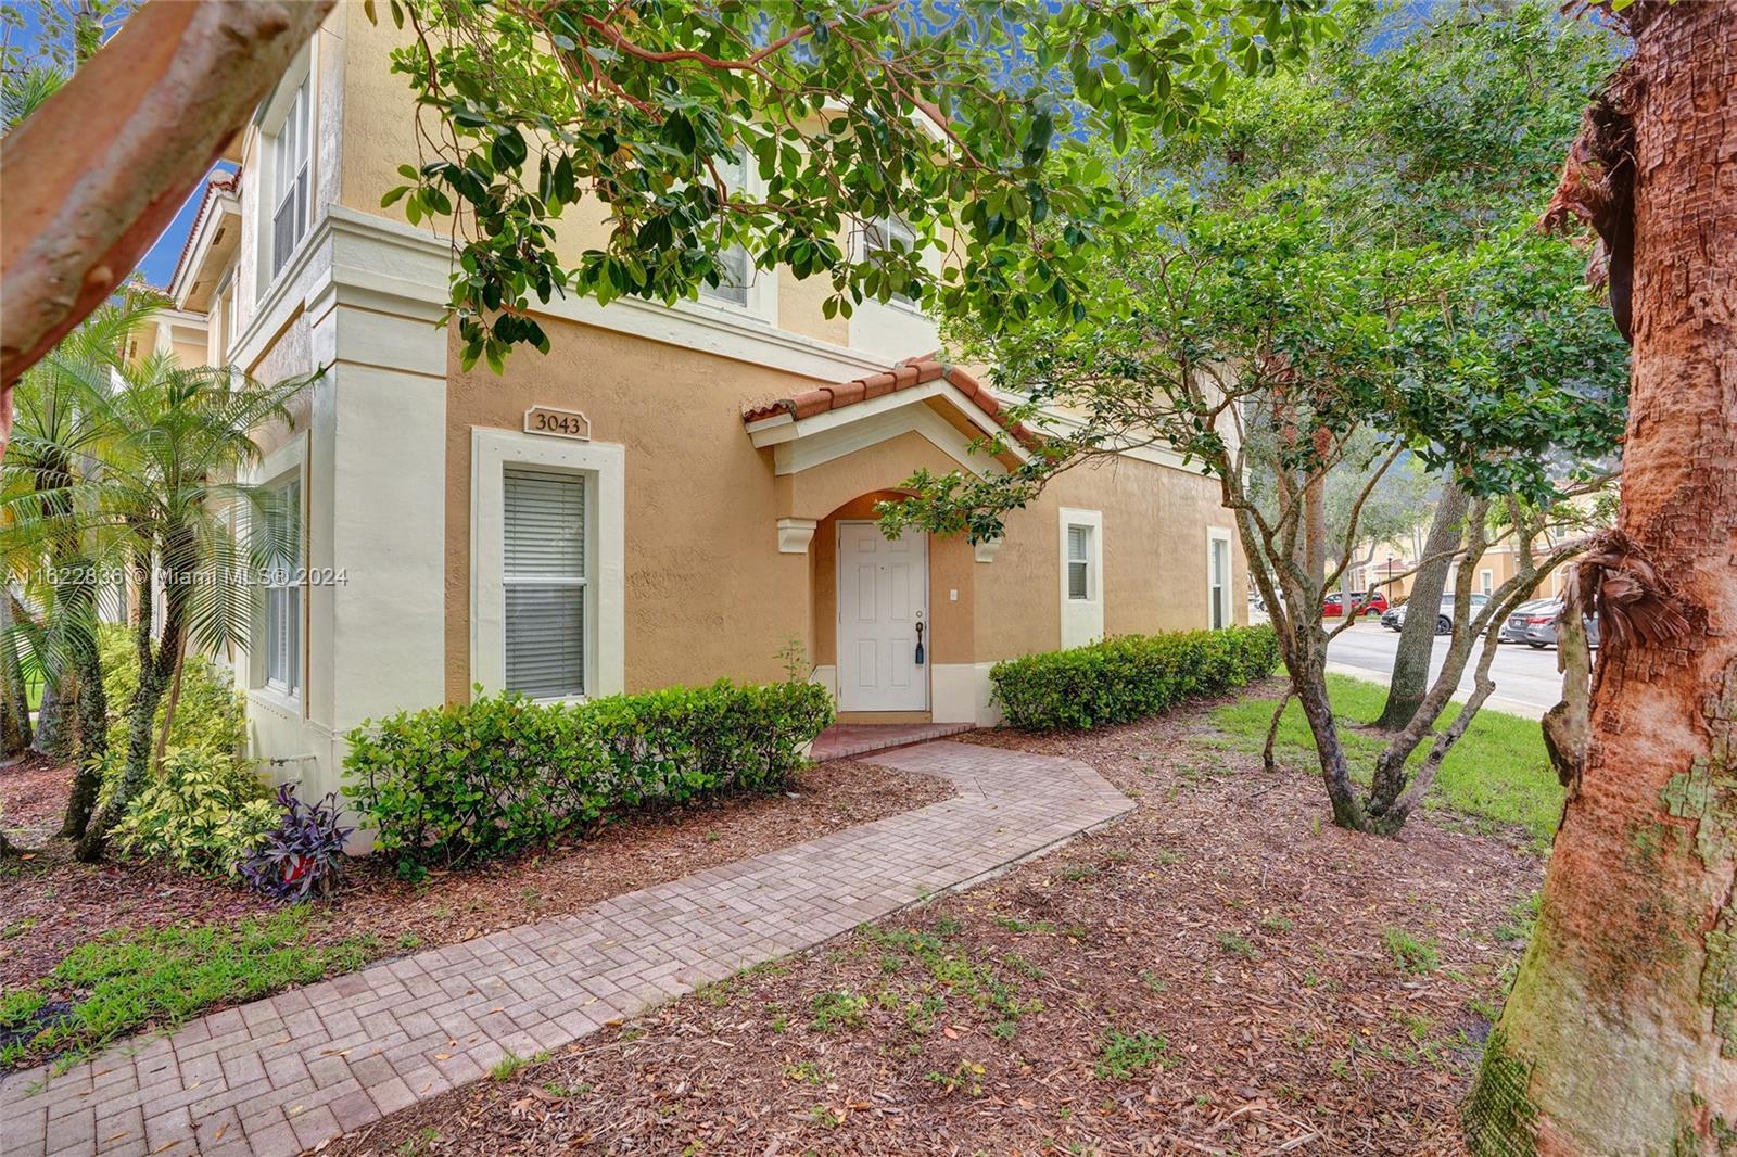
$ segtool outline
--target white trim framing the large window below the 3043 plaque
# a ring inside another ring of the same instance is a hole
[[[627,448],[511,429],[471,429],[471,683],[505,690],[507,596],[505,467],[537,466],[587,474],[585,686],[577,702],[627,686]]]

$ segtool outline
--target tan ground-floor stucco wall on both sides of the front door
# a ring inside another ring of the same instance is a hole
[[[592,440],[627,448],[625,683],[629,690],[719,676],[769,679],[799,638],[835,662],[834,549],[841,518],[872,518],[912,469],[957,462],[905,433],[797,474],[742,429],[745,403],[804,379],[705,353],[551,321],[552,351],[523,353],[504,377],[455,374],[446,436],[446,695],[469,695],[471,427],[519,429],[532,405],[584,410]],[[457,365],[457,358],[452,358]],[[1006,658],[1060,645],[1058,507],[1103,512],[1105,629],[1207,622],[1205,526],[1230,526],[1216,486],[1136,460],[1072,471],[1009,519],[994,563],[961,539],[929,551],[935,664]],[[808,554],[778,551],[780,516],[820,521]],[[1245,615],[1237,558],[1232,610]],[[959,598],[954,599],[952,592]]]

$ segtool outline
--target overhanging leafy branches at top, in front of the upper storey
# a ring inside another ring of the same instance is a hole
[[[387,0],[424,116],[386,202],[455,217],[464,354],[497,367],[547,347],[533,299],[672,302],[733,247],[830,278],[829,316],[895,294],[1082,316],[1087,255],[1127,221],[1105,149],[1193,132],[1235,76],[1301,59],[1322,7]],[[608,240],[565,264],[571,212]],[[888,221],[908,243],[858,243]]]

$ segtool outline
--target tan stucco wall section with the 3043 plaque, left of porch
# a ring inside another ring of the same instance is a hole
[[[471,427],[519,429],[532,405],[584,410],[592,440],[627,448],[627,688],[771,679],[809,629],[808,556],[780,554],[769,452],[747,403],[790,375],[547,320],[551,353],[502,377],[455,372],[446,438],[446,695],[469,695]],[[459,365],[453,353],[452,365]]]

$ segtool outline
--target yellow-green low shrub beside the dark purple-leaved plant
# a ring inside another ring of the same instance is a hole
[[[113,761],[111,763],[118,763]],[[278,822],[264,780],[231,756],[177,749],[115,825],[115,848],[179,869],[234,876],[236,862]]]

